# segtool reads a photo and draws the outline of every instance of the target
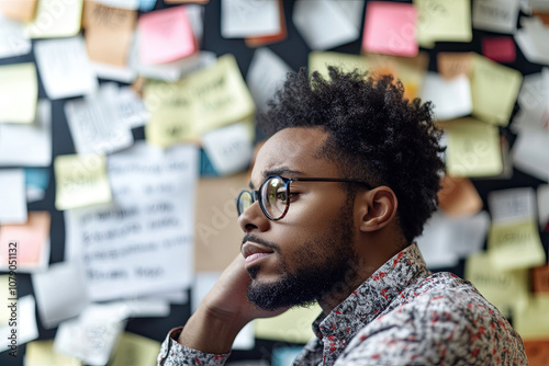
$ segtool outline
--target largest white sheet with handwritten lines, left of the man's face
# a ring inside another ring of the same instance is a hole
[[[91,299],[190,286],[197,173],[193,146],[141,142],[109,158],[113,203],[66,213],[67,258],[83,262]]]

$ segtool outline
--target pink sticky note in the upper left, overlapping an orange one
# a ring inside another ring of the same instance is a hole
[[[139,59],[143,64],[178,60],[197,52],[197,42],[184,7],[139,16]]]

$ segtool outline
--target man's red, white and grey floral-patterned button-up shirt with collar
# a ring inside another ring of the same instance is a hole
[[[313,323],[294,365],[528,365],[520,336],[474,286],[425,268],[412,244]],[[159,365],[223,365],[168,334]]]

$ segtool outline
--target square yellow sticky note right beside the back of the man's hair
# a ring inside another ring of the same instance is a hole
[[[453,176],[493,176],[503,171],[497,127],[473,118],[444,125],[448,136],[446,169]]]

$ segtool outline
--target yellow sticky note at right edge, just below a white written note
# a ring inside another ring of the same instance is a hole
[[[538,226],[534,219],[492,224],[488,248],[496,268],[527,268],[546,263]]]

